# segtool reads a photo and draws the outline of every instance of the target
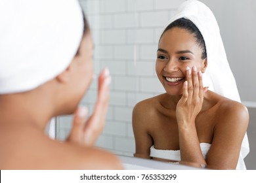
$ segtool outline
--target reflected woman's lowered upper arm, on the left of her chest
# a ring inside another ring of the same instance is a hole
[[[148,120],[145,112],[146,106],[143,101],[133,108],[133,133],[135,135],[135,157],[150,158],[150,147],[153,145],[152,138],[148,134]]]

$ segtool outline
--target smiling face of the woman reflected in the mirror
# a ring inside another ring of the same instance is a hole
[[[206,59],[202,59],[202,48],[194,35],[178,27],[163,33],[156,59],[156,74],[169,95],[181,95],[186,80],[186,67],[195,65],[204,73]]]

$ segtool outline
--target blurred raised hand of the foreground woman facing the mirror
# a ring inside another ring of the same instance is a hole
[[[74,113],[73,127],[67,141],[93,146],[102,132],[110,98],[111,77],[108,69],[98,76],[98,99],[93,114],[87,119],[88,110],[79,107]]]

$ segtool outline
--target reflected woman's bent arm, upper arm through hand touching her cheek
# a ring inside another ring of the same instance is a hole
[[[249,122],[247,108],[229,99],[220,101],[218,115],[215,116],[211,148],[206,159],[203,159],[195,119],[202,108],[205,88],[202,75],[195,69],[191,75],[190,71],[187,71],[187,80],[176,111],[181,161],[205,165],[210,169],[236,169]]]

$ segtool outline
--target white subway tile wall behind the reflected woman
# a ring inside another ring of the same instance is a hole
[[[112,75],[106,125],[96,146],[133,156],[131,123],[139,101],[163,93],[155,73],[156,50],[163,26],[184,0],[80,0],[95,42],[95,75],[108,67]],[[81,105],[93,112],[97,79]],[[72,116],[58,118],[58,139],[70,133]]]

